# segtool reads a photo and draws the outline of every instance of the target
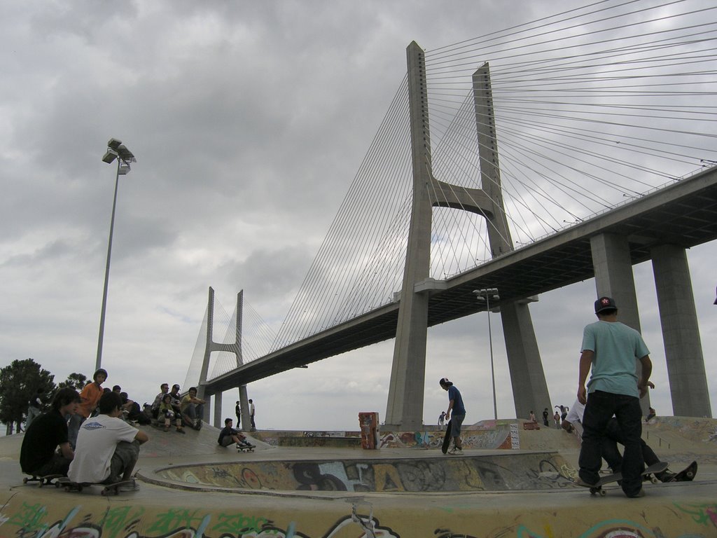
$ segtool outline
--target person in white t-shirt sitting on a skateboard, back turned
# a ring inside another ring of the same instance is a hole
[[[75,458],[67,476],[78,483],[129,481],[139,457],[139,445],[149,440],[148,435],[119,418],[122,399],[115,392],[102,395],[98,407],[100,414],[85,420],[77,434]]]

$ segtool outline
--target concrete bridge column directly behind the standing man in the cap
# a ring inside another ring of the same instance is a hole
[[[632,274],[630,244],[624,235],[604,233],[590,240],[592,265],[595,271],[597,296],[612,297],[617,303],[617,319],[636,331],[640,331],[640,311],[637,309],[635,276]],[[596,297],[597,299],[597,297]],[[586,308],[592,308],[587,305]],[[647,342],[649,349],[650,344]],[[642,374],[642,365],[635,361],[637,376]],[[650,409],[650,393],[640,400],[642,412]]]

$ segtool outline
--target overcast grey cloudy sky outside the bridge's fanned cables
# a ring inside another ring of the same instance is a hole
[[[578,5],[579,3],[576,3]],[[151,402],[183,383],[212,286],[280,323],[406,72],[435,49],[539,19],[553,1],[4,1],[0,4],[0,366],[32,357],[59,382],[91,376],[114,165],[120,178],[103,367]],[[688,253],[717,375],[717,245]],[[635,268],[660,414],[672,414],[649,263]],[[531,306],[553,405],[576,394],[594,281]],[[499,417],[514,417],[500,322]],[[456,380],[493,415],[485,313],[429,330],[424,421]],[[353,429],[386,411],[393,341],[250,384],[259,428]],[[717,387],[710,384],[713,410]],[[233,413],[236,391],[224,396]],[[536,410],[538,411],[538,410]]]

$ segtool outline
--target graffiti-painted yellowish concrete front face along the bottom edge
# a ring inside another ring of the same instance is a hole
[[[369,506],[368,509],[361,506]],[[92,508],[94,506],[94,508]],[[620,519],[612,514],[607,519],[586,522],[585,514],[567,522],[565,514],[554,514],[552,522],[541,516],[539,527],[530,522],[513,520],[508,527],[491,527],[485,538],[553,538],[570,529],[571,535],[581,538],[697,538],[714,536],[717,530],[717,504],[674,503],[674,510],[665,510],[672,518],[670,527],[681,529],[670,533],[662,524],[632,519]],[[207,509],[164,509],[153,511],[143,506],[109,506],[105,502],[83,503],[71,509],[53,509],[52,505],[11,501],[0,513],[0,536],[3,538],[401,538],[402,536],[433,536],[435,538],[477,538],[475,529],[430,527],[407,520],[399,511],[393,522],[381,524],[373,507],[365,501],[353,503],[350,514],[328,516],[323,519],[310,511],[295,514],[284,524],[277,524],[268,516],[247,511]],[[454,514],[455,515],[455,514]],[[455,516],[445,516],[448,521]],[[644,514],[643,514],[644,515]],[[530,516],[527,516],[530,519]],[[442,518],[441,518],[442,519]],[[457,520],[460,521],[460,518]],[[386,524],[388,523],[388,524]],[[456,524],[456,522],[453,522]],[[401,534],[397,529],[404,529]],[[537,529],[540,529],[539,531]],[[310,529],[310,530],[309,530]],[[419,532],[421,529],[421,532]],[[469,534],[473,532],[474,534]]]

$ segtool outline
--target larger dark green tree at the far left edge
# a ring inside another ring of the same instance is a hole
[[[13,426],[20,431],[27,405],[37,389],[47,394],[54,390],[54,375],[32,359],[14,360],[0,369],[0,422],[7,425],[7,433]]]

